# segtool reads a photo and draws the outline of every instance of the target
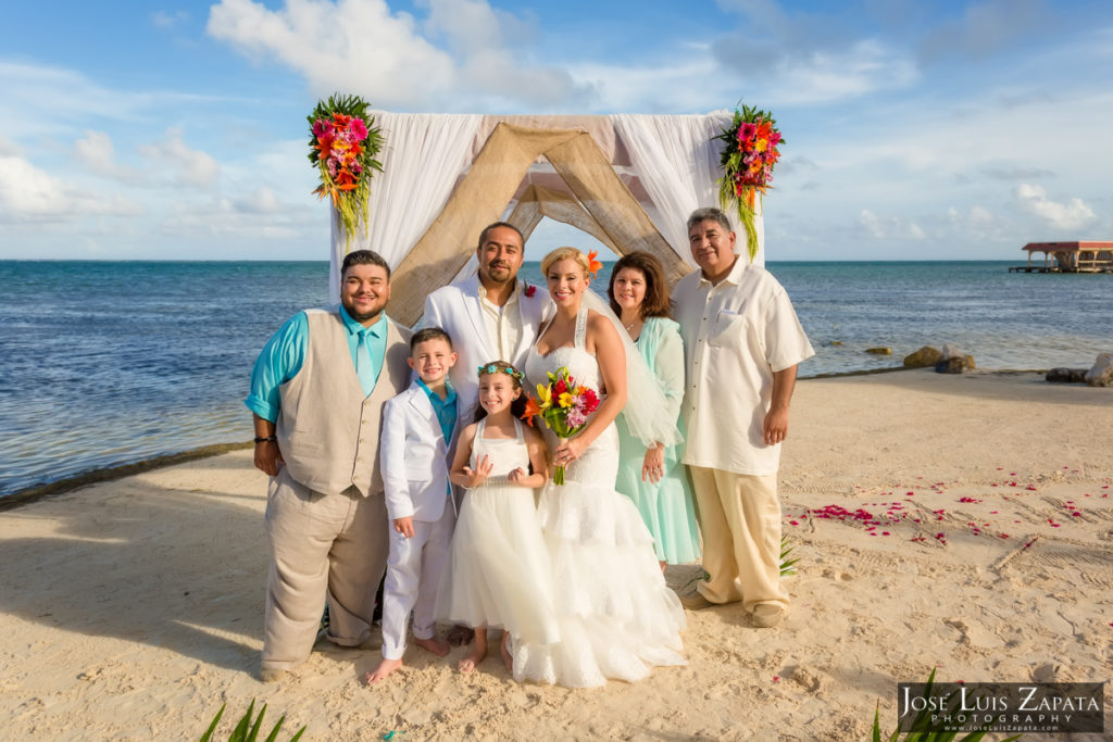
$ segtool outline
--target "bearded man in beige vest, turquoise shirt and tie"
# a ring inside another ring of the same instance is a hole
[[[280,680],[313,649],[328,600],[328,639],[371,637],[390,524],[378,441],[383,405],[410,384],[410,328],[386,316],[391,268],[355,250],[341,304],[294,315],[267,342],[245,404],[255,466],[270,475],[270,573],[260,677]]]

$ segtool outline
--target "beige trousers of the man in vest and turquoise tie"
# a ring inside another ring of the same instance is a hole
[[[383,495],[314,492],[283,467],[267,491],[270,573],[264,611],[264,670],[305,662],[328,600],[328,639],[356,646],[371,637],[375,591],[386,568]]]

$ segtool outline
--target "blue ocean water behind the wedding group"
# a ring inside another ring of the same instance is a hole
[[[1113,350],[1113,276],[1009,265],[769,269],[817,352],[801,376],[898,366],[948,342],[981,368],[1083,367]],[[541,281],[535,263],[523,275]],[[243,398],[256,355],[292,314],[327,301],[324,261],[0,261],[0,496],[249,439]],[[874,346],[893,355],[865,353]]]

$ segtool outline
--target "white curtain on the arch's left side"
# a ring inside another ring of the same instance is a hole
[[[471,162],[475,132],[483,117],[460,113],[394,113],[373,111],[382,128],[378,154],[383,171],[371,179],[367,234],[356,234],[352,249],[375,250],[392,266],[425,234],[452,195],[456,179]],[[339,301],[339,267],[346,235],[332,209],[333,303]]]

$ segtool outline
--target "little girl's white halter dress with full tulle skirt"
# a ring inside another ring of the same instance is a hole
[[[494,468],[486,484],[464,495],[437,594],[437,617],[504,629],[515,646],[548,646],[560,631],[533,489],[505,481],[518,467],[529,471],[521,423],[515,421],[516,438],[489,439],[484,422],[475,432],[471,466],[490,456]]]

